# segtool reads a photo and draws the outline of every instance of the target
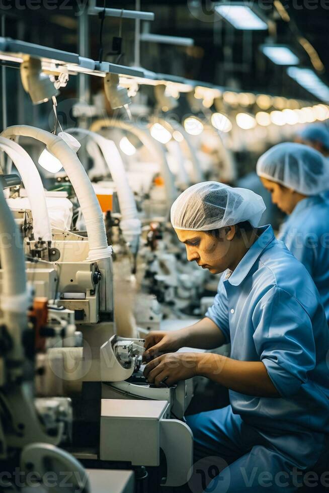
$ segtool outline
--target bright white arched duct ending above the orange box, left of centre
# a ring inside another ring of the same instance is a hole
[[[84,128],[68,128],[65,130],[68,133],[78,133],[88,135],[100,147],[106,164],[109,168],[113,181],[116,184],[122,219],[120,228],[127,242],[132,241],[132,237],[140,235],[141,222],[137,216],[136,202],[128,183],[127,174],[124,165],[117,149],[117,146],[112,140],[106,139],[98,133],[86,130]]]

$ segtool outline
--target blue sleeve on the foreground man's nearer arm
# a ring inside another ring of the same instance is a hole
[[[290,397],[315,367],[312,322],[299,301],[274,287],[253,314],[254,342],[260,360],[282,397]]]

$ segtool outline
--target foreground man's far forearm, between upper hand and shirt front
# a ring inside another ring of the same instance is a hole
[[[221,330],[207,317],[182,328],[178,333],[184,346],[189,348],[214,349],[225,343]]]

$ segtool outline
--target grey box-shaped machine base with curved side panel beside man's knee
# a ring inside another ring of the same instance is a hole
[[[193,435],[185,423],[169,418],[167,401],[102,399],[100,459],[159,466],[162,449],[167,463],[162,484],[181,486],[192,470]],[[138,446],[132,447],[132,437],[138,437]]]

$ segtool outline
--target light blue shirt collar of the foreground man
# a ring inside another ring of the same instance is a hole
[[[251,268],[262,255],[268,244],[274,240],[274,232],[271,225],[262,226],[257,228],[260,234],[259,238],[246,252],[244,257],[240,260],[230,277],[224,281],[230,283],[232,286],[238,286],[244,280],[246,275],[250,272]]]

